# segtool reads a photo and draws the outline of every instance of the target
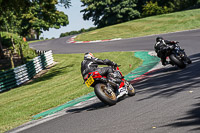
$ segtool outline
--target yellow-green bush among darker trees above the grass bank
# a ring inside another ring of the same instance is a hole
[[[158,15],[158,14],[165,14],[168,13],[169,9],[164,6],[158,6],[158,3],[155,2],[147,2],[146,5],[143,6],[143,13],[142,16],[152,16],[152,15]]]

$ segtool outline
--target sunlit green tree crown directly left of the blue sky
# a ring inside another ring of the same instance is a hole
[[[30,30],[35,30],[37,39],[42,31],[47,31],[49,28],[59,29],[61,26],[69,24],[68,16],[61,11],[57,11],[53,3],[33,2],[29,10],[22,15],[22,31],[19,33],[26,36]]]

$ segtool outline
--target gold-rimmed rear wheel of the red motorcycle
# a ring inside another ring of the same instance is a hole
[[[107,105],[115,105],[117,103],[117,97],[113,91],[108,91],[105,84],[99,83],[94,87],[96,96]]]

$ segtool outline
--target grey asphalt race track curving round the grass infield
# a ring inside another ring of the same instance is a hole
[[[94,44],[67,44],[68,38],[31,44],[55,54],[153,50],[155,36]],[[11,132],[21,133],[199,133],[200,132],[200,30],[163,34],[180,42],[193,63],[180,70],[159,67],[134,83],[136,96],[115,106],[98,99],[33,121]]]

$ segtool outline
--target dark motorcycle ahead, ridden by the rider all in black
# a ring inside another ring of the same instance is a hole
[[[167,56],[170,59],[170,63],[172,65],[176,65],[179,68],[183,69],[186,67],[186,64],[191,64],[192,61],[186,55],[184,49],[178,45],[179,42],[175,43],[174,45],[170,46],[170,49],[167,52]]]

